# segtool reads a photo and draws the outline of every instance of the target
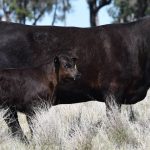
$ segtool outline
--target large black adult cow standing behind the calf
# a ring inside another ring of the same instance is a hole
[[[0,68],[33,68],[55,55],[73,53],[82,77],[60,84],[55,104],[96,99],[110,109],[110,95],[118,107],[134,104],[150,86],[149,26],[149,17],[93,28],[1,22]]]

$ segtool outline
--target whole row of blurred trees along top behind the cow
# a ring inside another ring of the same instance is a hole
[[[67,13],[73,9],[74,0],[0,0],[0,20],[36,25],[47,13],[50,25],[66,21]],[[91,26],[99,24],[100,9],[110,5],[109,15],[114,22],[129,22],[150,14],[150,0],[85,0],[89,10]]]

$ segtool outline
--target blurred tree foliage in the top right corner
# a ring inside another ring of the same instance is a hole
[[[150,0],[114,0],[109,14],[115,22],[130,22],[150,14]]]

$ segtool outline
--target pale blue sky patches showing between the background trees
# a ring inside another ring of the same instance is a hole
[[[72,10],[70,13],[67,13],[66,26],[89,27],[89,11],[86,0],[74,0],[71,4]],[[110,5],[105,6],[99,11],[99,25],[110,24],[113,21],[107,12],[109,7]],[[50,25],[51,22],[52,20],[50,20],[50,16],[46,14],[37,25]],[[55,25],[64,26],[64,23],[59,21],[56,22]]]

